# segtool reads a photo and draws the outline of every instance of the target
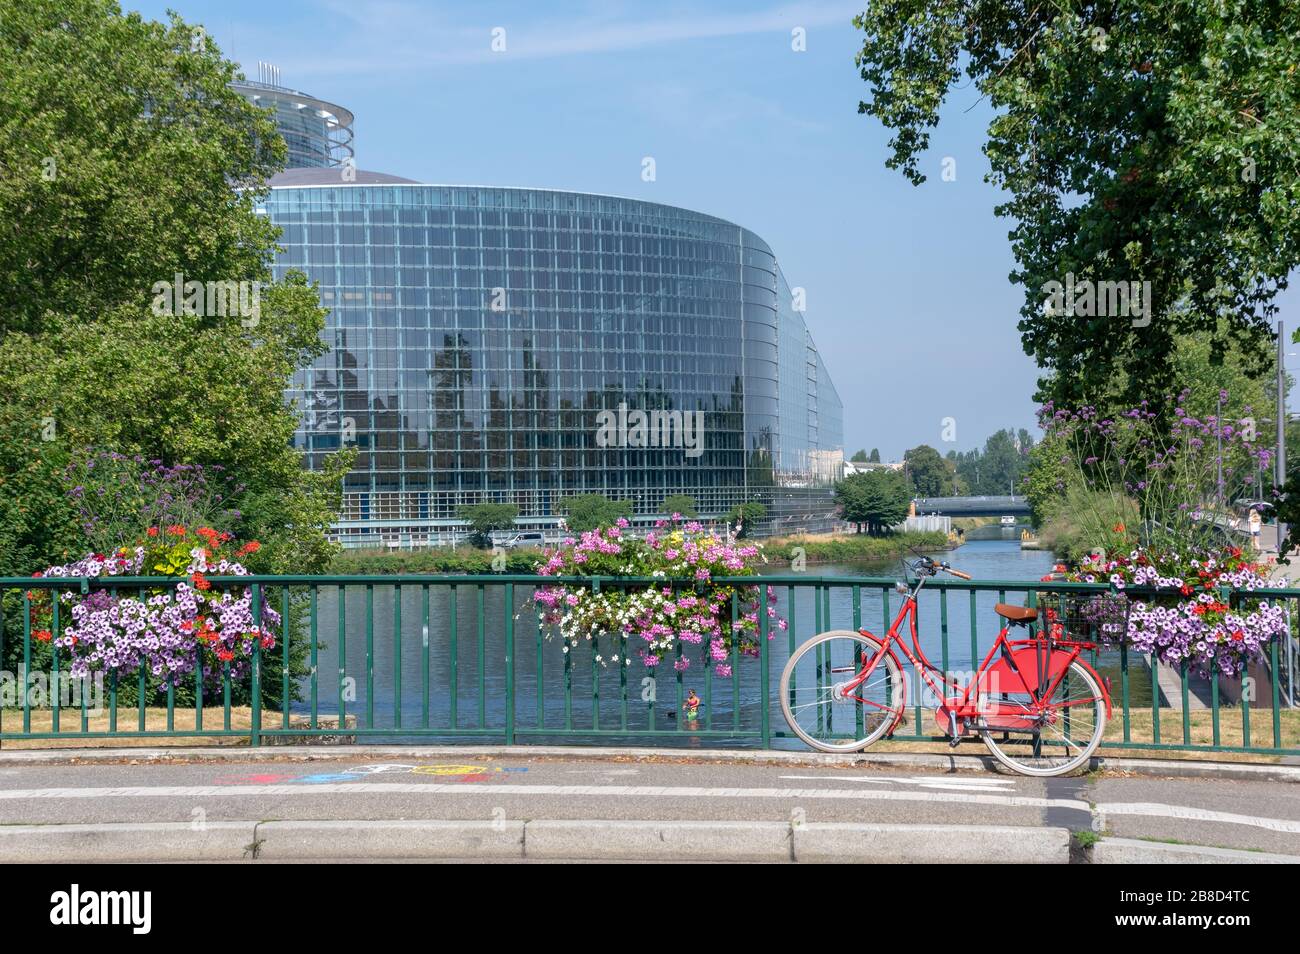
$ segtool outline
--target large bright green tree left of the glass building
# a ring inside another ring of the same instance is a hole
[[[270,283],[277,231],[255,209],[286,153],[269,114],[230,88],[237,75],[177,17],[3,4],[0,394],[52,422],[51,456],[225,467],[261,568],[309,572],[333,552],[352,454],[312,472],[292,447],[283,390],[324,352],[325,312],[300,274]],[[156,283],[177,274],[257,283],[259,307],[164,313]],[[0,473],[21,471],[20,452],[0,447]],[[60,546],[29,533],[8,559],[62,561]]]

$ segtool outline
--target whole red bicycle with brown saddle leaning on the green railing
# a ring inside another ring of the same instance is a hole
[[[790,656],[780,697],[794,734],[829,753],[858,751],[893,734],[907,707],[897,649],[933,693],[935,719],[949,745],[978,733],[998,762],[1022,775],[1065,775],[1087,764],[1110,715],[1106,684],[1082,658],[1096,643],[1072,638],[1057,620],[1046,632],[1032,632],[1036,610],[998,603],[993,610],[1002,629],[963,685],[920,649],[916,597],[936,573],[971,577],[928,556],[909,568],[916,582],[897,585],[904,603],[884,639],[866,629],[835,630],[815,636]],[[911,647],[900,634],[904,620]],[[1026,628],[1024,638],[1009,638],[1013,626]]]

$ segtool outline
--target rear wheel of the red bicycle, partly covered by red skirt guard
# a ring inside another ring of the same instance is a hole
[[[1050,697],[1037,704],[1023,688],[983,704],[984,745],[1020,775],[1066,775],[1086,766],[1106,730],[1105,695],[1078,662],[1070,663]]]

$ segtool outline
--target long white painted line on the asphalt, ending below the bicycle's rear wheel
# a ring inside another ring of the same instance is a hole
[[[876,789],[728,789],[689,785],[495,785],[489,782],[320,782],[276,785],[160,785],[121,788],[61,788],[0,790],[0,801],[35,798],[220,798],[221,795],[619,795],[625,798],[803,798],[854,802],[944,802],[996,805],[1011,808],[1072,808],[1089,811],[1076,798],[983,794],[979,792],[880,792]]]

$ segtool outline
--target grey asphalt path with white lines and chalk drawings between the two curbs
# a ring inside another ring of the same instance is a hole
[[[718,764],[343,758],[0,766],[0,824],[725,820],[1065,827],[1300,855],[1300,784]]]

